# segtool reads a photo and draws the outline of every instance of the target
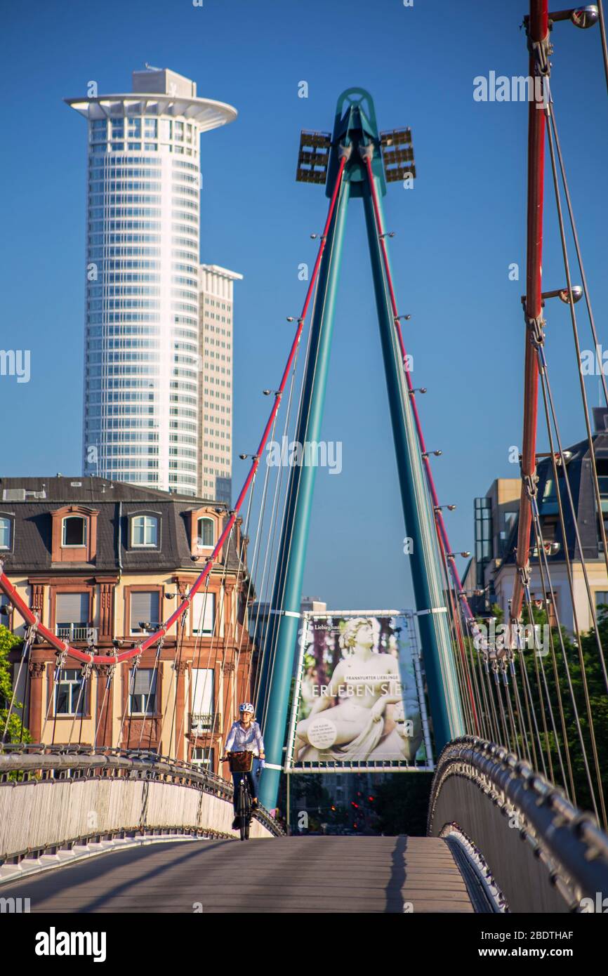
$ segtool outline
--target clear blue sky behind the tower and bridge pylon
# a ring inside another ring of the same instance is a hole
[[[5,474],[80,473],[86,124],[61,101],[131,89],[143,62],[196,80],[237,121],[203,137],[201,259],[244,274],[236,285],[235,455],[258,443],[313,261],[320,187],[295,183],[301,129],[331,129],[338,95],[368,88],[381,129],[411,126],[418,180],[385,200],[406,345],[442,501],[456,503],[455,549],[472,548],[472,500],[514,476],[521,441],[527,105],[478,103],[473,78],[527,73],[524,0],[130,0],[4,8],[2,276],[4,348],[31,350],[31,380],[0,378]],[[603,192],[608,99],[599,31],[553,31],[552,93],[605,335]],[[308,83],[308,98],[298,85]],[[552,194],[550,185],[547,190]],[[547,206],[545,287],[562,284]],[[508,264],[521,268],[508,280]],[[573,279],[579,280],[578,273]],[[579,306],[581,307],[581,306]],[[547,356],[566,442],[584,435],[568,309],[550,306]],[[588,327],[582,316],[588,346]],[[597,403],[597,381],[589,393]],[[12,423],[7,423],[11,417]],[[344,443],[344,471],[317,476],[304,591],[334,607],[412,603],[360,202],[348,217],[323,436]],[[541,449],[545,441],[541,438]],[[234,463],[238,489],[243,462]]]

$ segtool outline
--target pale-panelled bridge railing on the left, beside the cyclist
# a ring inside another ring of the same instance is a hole
[[[144,750],[3,748],[0,862],[119,837],[234,836],[232,784],[198,766]],[[259,809],[251,835],[281,834]]]

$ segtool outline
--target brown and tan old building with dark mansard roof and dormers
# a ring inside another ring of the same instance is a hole
[[[21,598],[71,645],[108,655],[137,646],[179,606],[222,533],[223,503],[97,477],[0,478],[0,559]],[[247,540],[237,520],[184,622],[133,661],[94,666],[34,642],[18,698],[34,742],[151,749],[223,772],[223,736],[251,698]],[[239,556],[241,558],[239,559]],[[2,623],[23,620],[6,596]],[[14,673],[19,652],[13,652]],[[84,689],[81,692],[81,688]]]

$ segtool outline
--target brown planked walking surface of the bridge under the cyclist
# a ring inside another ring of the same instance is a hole
[[[437,837],[168,841],[0,889],[32,913],[470,913]]]

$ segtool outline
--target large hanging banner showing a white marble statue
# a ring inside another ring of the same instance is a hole
[[[433,768],[415,618],[304,614],[286,769]]]

